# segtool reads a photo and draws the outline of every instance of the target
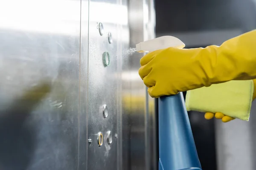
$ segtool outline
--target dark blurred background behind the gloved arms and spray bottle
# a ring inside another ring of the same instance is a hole
[[[255,0],[155,0],[156,36],[172,35],[186,48],[221,45],[256,28]],[[189,112],[203,170],[253,170],[256,167],[256,103],[250,121],[206,120]]]

